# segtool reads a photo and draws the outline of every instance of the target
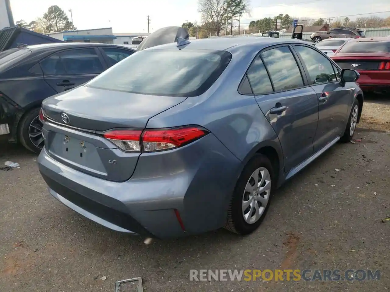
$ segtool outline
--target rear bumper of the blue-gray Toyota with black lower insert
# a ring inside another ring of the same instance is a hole
[[[76,171],[45,149],[38,165],[51,195],[90,220],[121,232],[170,238],[225,224],[241,161],[209,134],[163,155],[140,155],[125,182]]]

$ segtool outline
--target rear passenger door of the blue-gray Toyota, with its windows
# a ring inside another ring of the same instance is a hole
[[[316,93],[306,86],[288,45],[262,51],[247,76],[261,111],[278,135],[287,172],[313,153],[318,122]]]

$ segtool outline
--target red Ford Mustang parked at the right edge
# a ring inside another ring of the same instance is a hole
[[[390,93],[390,37],[367,37],[345,42],[331,57],[342,69],[360,73],[363,91]]]

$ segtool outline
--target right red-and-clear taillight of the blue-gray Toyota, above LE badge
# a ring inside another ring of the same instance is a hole
[[[178,148],[209,134],[208,131],[186,126],[168,129],[112,130],[103,137],[125,152],[152,152]]]

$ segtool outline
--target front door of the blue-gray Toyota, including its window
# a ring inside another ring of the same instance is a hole
[[[310,86],[317,93],[319,120],[313,141],[314,152],[317,152],[344,132],[353,90],[340,85],[338,70],[316,49],[305,45],[293,47],[301,59]]]

